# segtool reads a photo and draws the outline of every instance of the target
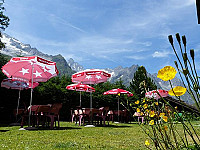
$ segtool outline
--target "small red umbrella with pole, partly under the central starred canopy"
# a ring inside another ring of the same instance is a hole
[[[80,91],[80,106],[81,106],[81,92],[95,92],[95,88],[86,84],[70,84],[66,87],[67,90]]]

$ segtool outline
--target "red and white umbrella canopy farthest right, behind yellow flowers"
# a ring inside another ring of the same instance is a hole
[[[149,92],[145,93],[145,97],[147,97],[147,98],[159,99],[160,96],[158,95],[157,92],[158,92],[162,97],[167,97],[167,96],[168,96],[168,91],[165,91],[165,90],[153,90],[153,91],[149,91]]]

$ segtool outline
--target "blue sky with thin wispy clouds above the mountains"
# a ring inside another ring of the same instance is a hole
[[[200,69],[195,0],[6,0],[5,33],[86,68],[143,65],[155,73],[176,60],[168,35],[186,35]]]

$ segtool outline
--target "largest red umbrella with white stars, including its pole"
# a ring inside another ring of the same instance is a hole
[[[33,82],[46,82],[50,78],[58,75],[55,62],[38,56],[13,57],[2,67],[2,72],[7,77],[12,77],[13,80],[32,83],[30,107],[32,105]]]

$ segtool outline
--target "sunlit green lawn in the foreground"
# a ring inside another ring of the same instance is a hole
[[[195,128],[200,133],[200,127]],[[143,150],[146,149],[146,139],[148,137],[137,123],[79,127],[74,123],[61,122],[60,129],[25,131],[19,130],[19,126],[0,127],[1,150]]]

